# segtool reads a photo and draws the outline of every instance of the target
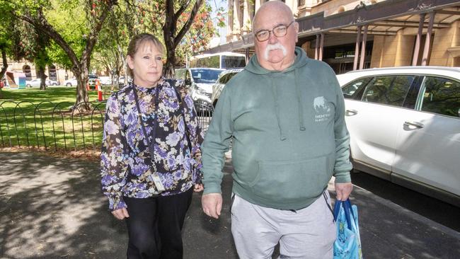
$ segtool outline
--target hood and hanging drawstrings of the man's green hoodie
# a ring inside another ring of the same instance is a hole
[[[301,131],[304,131],[305,130],[305,122],[304,122],[304,103],[302,102],[301,100],[301,94],[300,94],[300,83],[299,83],[299,72],[298,70],[301,68],[301,67],[304,67],[306,66],[306,64],[309,62],[309,58],[306,57],[306,53],[304,50],[301,49],[301,47],[296,47],[295,48],[295,52],[296,54],[296,58],[294,59],[294,63],[288,67],[287,69],[284,69],[283,71],[273,71],[273,70],[268,70],[268,69],[264,69],[263,67],[260,66],[259,62],[258,62],[258,59],[257,59],[257,56],[256,55],[253,55],[253,57],[251,57],[251,59],[249,60],[249,64],[244,68],[246,69],[247,71],[253,73],[253,74],[258,74],[258,75],[266,75],[266,76],[270,76],[270,74],[287,74],[287,73],[294,73],[294,81],[295,81],[295,87],[296,87],[296,91],[297,91],[297,104],[299,107],[299,110],[298,110],[298,115],[299,115],[299,130]],[[273,82],[272,80],[270,80],[271,82]],[[278,122],[278,127],[280,129],[280,140],[285,140],[286,139],[286,134],[284,134],[284,127],[283,125],[281,124],[281,120],[280,120],[280,105],[278,104],[279,100],[278,100],[278,96],[279,96],[279,93],[278,91],[282,91],[280,89],[280,87],[276,86],[275,84],[271,84],[271,88],[272,88],[272,94],[273,94],[273,98],[275,99],[275,103],[273,103],[273,105],[275,105],[275,111],[276,111],[276,117],[277,117],[277,122]]]

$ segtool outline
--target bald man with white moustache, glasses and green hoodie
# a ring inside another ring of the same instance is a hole
[[[232,139],[231,231],[240,258],[332,258],[326,187],[352,191],[343,94],[327,64],[295,47],[299,25],[280,1],[253,20],[255,56],[222,91],[203,144],[202,207],[222,209],[224,152]]]

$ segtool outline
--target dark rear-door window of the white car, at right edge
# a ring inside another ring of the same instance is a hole
[[[423,82],[421,110],[441,115],[459,117],[460,82],[452,79],[427,76]]]

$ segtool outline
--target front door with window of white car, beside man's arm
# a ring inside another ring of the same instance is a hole
[[[405,109],[404,100],[416,77],[368,76],[343,87],[345,121],[355,162],[391,173],[402,120],[398,114]]]

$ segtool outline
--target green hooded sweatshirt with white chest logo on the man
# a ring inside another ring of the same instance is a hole
[[[225,86],[202,146],[205,194],[221,192],[224,152],[232,139],[233,192],[275,209],[313,203],[335,175],[350,182],[343,93],[328,64],[296,47],[284,71],[257,57]]]

